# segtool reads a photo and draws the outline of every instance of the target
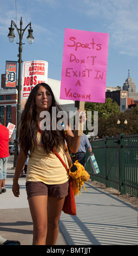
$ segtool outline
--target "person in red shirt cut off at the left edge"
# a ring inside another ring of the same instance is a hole
[[[9,130],[1,123],[0,116],[0,194],[6,192],[6,167],[9,157]]]

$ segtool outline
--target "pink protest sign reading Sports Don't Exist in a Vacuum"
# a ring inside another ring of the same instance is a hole
[[[60,99],[105,102],[109,34],[65,28]]]

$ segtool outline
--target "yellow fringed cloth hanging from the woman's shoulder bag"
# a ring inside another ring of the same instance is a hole
[[[73,167],[73,164],[71,164],[69,168],[69,175],[71,178],[73,178],[73,190],[74,190],[74,196],[78,193],[82,193],[82,185],[84,187],[84,190],[87,191],[86,187],[84,186],[84,182],[88,181],[90,178],[89,173],[84,169],[81,163],[76,161],[74,165],[77,167],[77,170],[75,172],[71,172],[71,167]],[[81,192],[80,192],[81,188]]]

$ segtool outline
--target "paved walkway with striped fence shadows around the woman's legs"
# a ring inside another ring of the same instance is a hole
[[[25,191],[19,178],[20,197],[12,194],[13,156],[9,157],[6,193],[0,195],[0,235],[32,244],[32,220]],[[86,184],[87,191],[76,198],[77,216],[62,212],[57,245],[138,245],[137,210],[115,196]]]

